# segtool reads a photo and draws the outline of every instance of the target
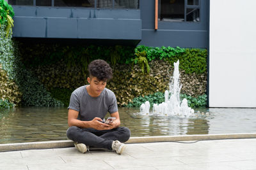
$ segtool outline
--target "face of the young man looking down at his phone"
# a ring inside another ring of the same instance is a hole
[[[100,96],[100,93],[107,85],[107,80],[100,81],[97,77],[90,76],[87,78],[88,83],[90,83],[90,92],[93,96]]]

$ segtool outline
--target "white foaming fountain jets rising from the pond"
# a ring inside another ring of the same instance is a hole
[[[180,103],[180,89],[182,85],[179,82],[179,60],[174,62],[173,76],[169,83],[169,90],[164,92],[164,102],[161,104],[153,104],[153,113],[157,115],[191,117],[194,115],[194,110],[189,108],[188,100],[183,99]],[[147,106],[146,106],[147,105]],[[150,104],[147,101],[141,104],[140,111],[143,114],[149,114]]]

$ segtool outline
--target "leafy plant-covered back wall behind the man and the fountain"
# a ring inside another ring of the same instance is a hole
[[[107,87],[115,92],[119,106],[138,106],[145,100],[139,102],[136,97],[147,99],[156,92],[163,93],[168,89],[173,62],[177,60],[180,60],[183,97],[190,97],[191,106],[206,104],[207,51],[204,49],[19,44],[19,51],[26,68],[65,106],[71,92],[87,83],[86,68],[94,59],[107,60],[113,67],[113,79]],[[163,96],[158,97],[161,98],[157,103],[163,100]],[[198,103],[198,97],[203,97],[204,102]]]

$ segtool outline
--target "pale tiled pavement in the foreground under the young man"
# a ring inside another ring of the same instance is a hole
[[[126,145],[122,155],[74,147],[0,152],[0,169],[256,169],[256,138]]]

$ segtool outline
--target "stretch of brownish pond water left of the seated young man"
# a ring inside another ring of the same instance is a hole
[[[0,118],[0,143],[67,139],[66,108],[1,110]]]

